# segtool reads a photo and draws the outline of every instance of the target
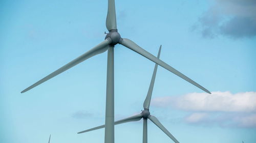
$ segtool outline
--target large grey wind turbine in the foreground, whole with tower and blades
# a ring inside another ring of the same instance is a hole
[[[94,55],[100,54],[108,50],[108,62],[107,62],[108,65],[106,69],[107,72],[106,72],[105,143],[114,142],[114,47],[116,44],[121,44],[141,54],[145,58],[155,62],[161,67],[167,69],[170,72],[173,72],[177,76],[183,78],[189,83],[194,84],[196,87],[210,94],[210,92],[206,90],[204,87],[202,87],[200,84],[191,80],[190,78],[188,78],[178,70],[174,69],[173,67],[169,66],[165,62],[157,59],[156,56],[147,52],[146,50],[138,46],[136,43],[134,43],[133,41],[126,38],[121,38],[120,34],[117,31],[115,0],[108,0],[108,14],[106,16],[106,28],[108,29],[109,33],[106,35],[104,41],[102,41],[101,43],[99,43],[98,45],[96,45],[86,53],[83,53],[82,55],[78,56],[78,58],[69,62],[65,66],[62,66],[61,68],[57,69],[53,73],[49,74],[48,76],[35,82],[30,87],[23,90],[21,93],[27,92],[33,89],[34,87],[36,87],[37,85],[76,66],[77,64],[83,62],[84,60],[87,60]]]

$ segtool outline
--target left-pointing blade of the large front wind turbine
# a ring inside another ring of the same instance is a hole
[[[110,43],[110,39],[106,39],[103,42],[101,42],[100,44],[98,44],[97,46],[95,46],[94,48],[90,49],[88,52],[80,55],[78,58],[76,58],[75,60],[69,62],[68,64],[66,64],[65,66],[57,69],[56,71],[54,71],[53,73],[49,74],[48,76],[42,78],[41,80],[35,82],[33,85],[31,85],[30,87],[28,87],[27,89],[25,89],[24,91],[22,91],[21,93],[27,92],[31,89],[33,89],[34,87],[36,87],[37,85],[53,78],[54,76],[74,67],[75,65],[83,62],[84,60],[87,60],[89,58],[91,58],[92,56],[102,53],[104,51],[106,51],[108,49],[108,44]]]

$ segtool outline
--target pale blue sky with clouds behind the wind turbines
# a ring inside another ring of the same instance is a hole
[[[0,142],[103,142],[106,58],[96,55],[21,94],[104,40],[107,1],[0,1]],[[256,142],[256,2],[116,1],[117,28],[203,85],[158,67],[151,115],[182,143]],[[155,64],[115,47],[115,119],[143,109]],[[142,142],[142,121],[115,142]],[[148,143],[173,142],[148,121]]]

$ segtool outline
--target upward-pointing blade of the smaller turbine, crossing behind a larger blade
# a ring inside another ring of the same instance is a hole
[[[159,59],[159,57],[160,57],[161,48],[162,48],[162,45],[159,48],[157,59]],[[143,104],[144,109],[149,109],[150,108],[151,96],[152,96],[152,92],[153,92],[153,88],[154,88],[154,83],[155,83],[155,79],[156,79],[156,74],[157,74],[157,66],[158,65],[156,64],[155,68],[154,68],[154,72],[153,72],[152,78],[151,78],[150,88],[148,89],[148,92],[147,92],[147,95],[146,95],[146,99],[145,99],[144,104]]]

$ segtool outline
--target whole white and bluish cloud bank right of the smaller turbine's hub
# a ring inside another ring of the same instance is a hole
[[[189,115],[184,117],[188,124],[256,128],[256,92],[189,93],[154,98],[152,105],[188,111]]]

